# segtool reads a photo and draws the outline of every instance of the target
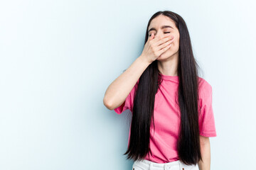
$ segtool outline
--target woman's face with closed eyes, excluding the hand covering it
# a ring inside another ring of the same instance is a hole
[[[167,26],[167,27],[164,27]],[[171,28],[169,27],[171,26]],[[174,21],[171,20],[168,16],[159,15],[154,18],[149,24],[149,36],[151,33],[154,33],[154,36],[164,35],[166,33],[170,33],[174,35],[174,41],[171,42],[171,47],[168,50],[163,52],[156,60],[166,60],[171,56],[178,56],[179,49],[179,32],[178,28],[176,28]]]

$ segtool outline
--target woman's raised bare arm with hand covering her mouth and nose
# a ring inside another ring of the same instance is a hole
[[[144,45],[142,55],[108,86],[103,98],[104,105],[110,110],[121,106],[144,70],[171,47],[174,39],[170,34],[154,37],[153,33]]]

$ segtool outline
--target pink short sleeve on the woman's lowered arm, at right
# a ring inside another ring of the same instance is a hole
[[[216,137],[215,119],[213,115],[213,89],[210,84],[203,79],[201,88],[199,89],[199,104],[201,112],[199,112],[198,123],[201,136]],[[200,111],[200,110],[199,110]]]

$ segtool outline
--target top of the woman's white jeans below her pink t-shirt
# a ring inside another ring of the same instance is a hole
[[[196,166],[186,165],[180,160],[159,164],[146,159],[142,159],[141,161],[134,162],[132,165],[132,170],[199,170],[199,166],[198,164],[196,164]]]

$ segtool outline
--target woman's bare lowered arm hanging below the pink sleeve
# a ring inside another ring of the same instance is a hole
[[[198,162],[199,170],[210,170],[210,139],[200,135],[203,162]]]

